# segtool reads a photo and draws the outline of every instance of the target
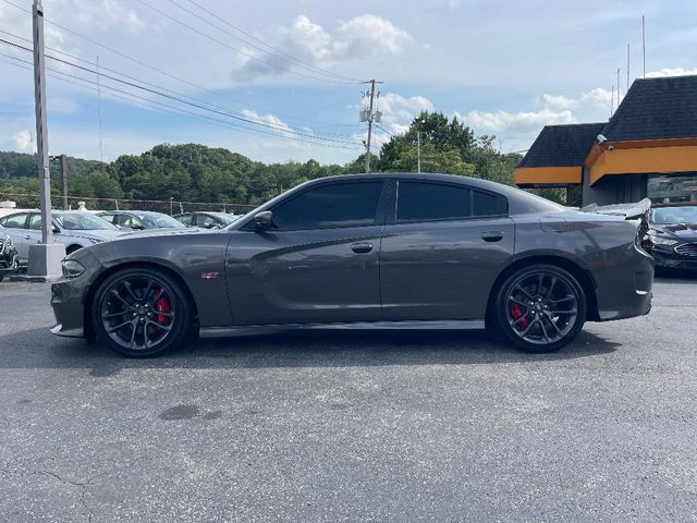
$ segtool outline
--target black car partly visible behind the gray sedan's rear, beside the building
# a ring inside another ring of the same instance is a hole
[[[653,204],[645,247],[657,269],[697,269],[697,203]]]

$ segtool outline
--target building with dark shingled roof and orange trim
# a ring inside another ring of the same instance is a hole
[[[515,183],[573,205],[697,202],[697,75],[636,80],[608,122],[547,125]]]

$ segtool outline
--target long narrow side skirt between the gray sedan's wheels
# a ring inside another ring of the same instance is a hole
[[[294,330],[479,330],[484,319],[421,320],[421,321],[356,321],[351,324],[284,324],[241,325],[233,327],[203,327],[200,338],[273,335]]]

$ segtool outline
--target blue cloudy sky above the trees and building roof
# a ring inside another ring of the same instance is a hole
[[[0,39],[30,47],[30,9],[0,0]],[[345,163],[365,150],[370,78],[383,82],[374,153],[421,110],[525,150],[543,125],[607,121],[617,69],[621,97],[627,88],[627,45],[629,83],[644,74],[641,15],[647,76],[697,74],[694,0],[44,0],[44,11],[50,154],[105,161],[200,143]],[[0,150],[35,150],[35,129],[32,53],[1,44]]]

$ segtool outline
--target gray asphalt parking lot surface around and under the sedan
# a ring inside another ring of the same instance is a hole
[[[0,284],[0,521],[697,521],[697,278],[558,354],[484,333],[52,337]]]

